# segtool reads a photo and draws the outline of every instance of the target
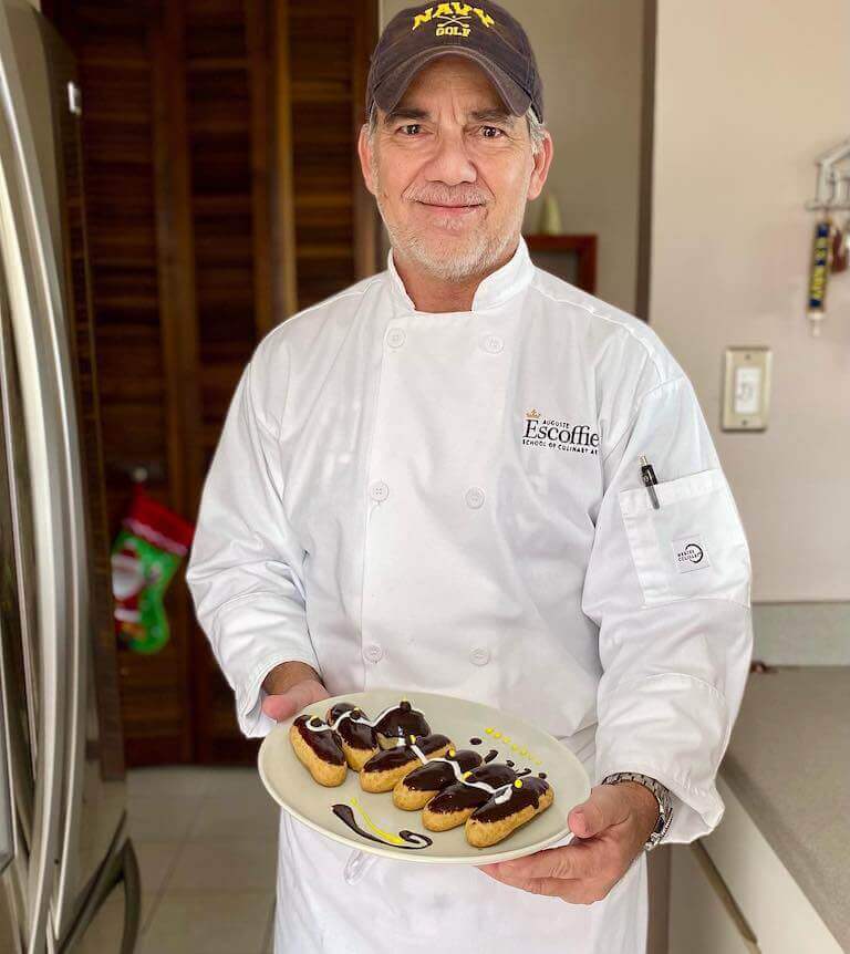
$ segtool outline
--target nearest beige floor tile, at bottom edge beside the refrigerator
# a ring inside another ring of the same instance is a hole
[[[268,926],[270,892],[167,892],[139,954],[258,954]]]

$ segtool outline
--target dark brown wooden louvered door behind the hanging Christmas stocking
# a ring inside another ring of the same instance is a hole
[[[42,0],[74,51],[111,533],[132,475],[188,517],[260,338],[379,268],[356,164],[377,0]],[[182,575],[120,647],[128,765],[251,761]]]

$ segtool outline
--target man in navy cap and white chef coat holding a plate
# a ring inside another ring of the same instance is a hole
[[[640,954],[644,849],[723,813],[753,639],[737,509],[657,335],[530,262],[552,142],[519,23],[402,11],[366,108],[387,269],[257,349],[205,487],[198,618],[247,736],[329,695],[443,692],[540,725],[594,785],[572,843],[360,878],[281,812],[274,951]]]

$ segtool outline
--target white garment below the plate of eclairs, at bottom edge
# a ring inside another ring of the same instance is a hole
[[[281,810],[274,954],[645,954],[646,856],[595,904],[568,904],[489,878],[471,864],[367,856]]]

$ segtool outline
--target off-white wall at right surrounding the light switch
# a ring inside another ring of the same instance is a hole
[[[850,272],[805,319],[815,158],[850,136],[850,3],[659,0],[650,321],[692,377],[754,601],[850,598]],[[774,351],[763,434],[719,431],[727,345]]]

